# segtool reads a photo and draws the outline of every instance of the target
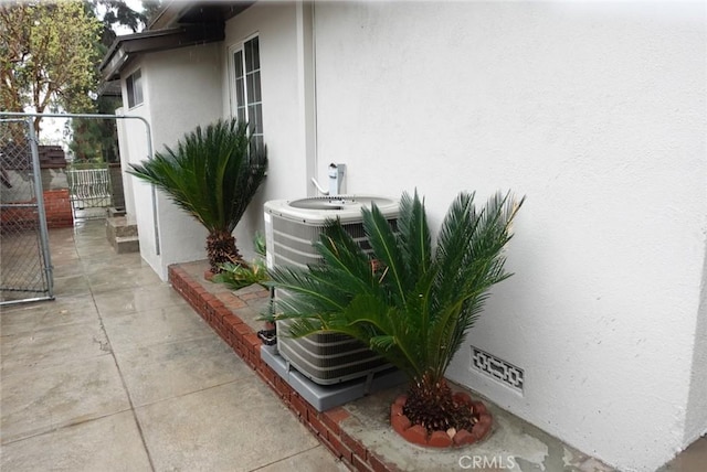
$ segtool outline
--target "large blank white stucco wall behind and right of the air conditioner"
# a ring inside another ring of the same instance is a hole
[[[315,6],[317,152],[348,164],[349,192],[416,187],[434,224],[461,190],[527,195],[516,276],[467,340],[524,368],[525,395],[472,372],[468,348],[450,377],[622,470],[707,429],[706,19],[678,2]]]

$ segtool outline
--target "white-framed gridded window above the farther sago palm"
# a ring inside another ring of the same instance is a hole
[[[257,67],[251,71],[246,68],[246,57],[245,57],[245,45],[250,41],[257,39],[258,50],[257,50]],[[236,54],[241,54],[241,66],[243,71],[242,75],[242,88],[243,88],[243,104],[239,103],[239,89],[236,85],[238,74],[236,74]],[[251,125],[251,129],[253,130],[253,136],[255,140],[260,143],[263,142],[263,97],[262,97],[262,75],[261,75],[261,54],[260,54],[260,34],[254,33],[250,36],[245,37],[243,41],[233,44],[229,47],[229,76],[230,76],[230,95],[231,95],[231,116],[244,119]],[[257,84],[254,86],[257,87],[256,93],[250,90],[247,86],[247,76],[253,75],[253,81],[256,81]],[[256,96],[253,96],[256,95]],[[260,98],[260,100],[257,99]],[[242,116],[239,116],[239,108],[242,109]],[[253,110],[255,114],[260,114],[258,116],[252,116]],[[260,119],[258,119],[260,118]]]

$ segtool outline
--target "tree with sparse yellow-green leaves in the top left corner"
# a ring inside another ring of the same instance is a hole
[[[0,6],[0,107],[36,112],[92,109],[101,22],[81,2],[10,1]],[[40,132],[41,118],[34,119]]]

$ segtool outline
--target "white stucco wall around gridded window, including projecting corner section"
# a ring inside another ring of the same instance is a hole
[[[125,88],[125,78],[141,67],[144,105],[130,110],[126,105],[125,109],[150,121],[154,149],[161,151],[163,144],[175,144],[197,125],[232,115],[229,50],[254,34],[260,35],[261,86],[265,97],[263,128],[270,169],[265,184],[234,232],[246,258],[253,256],[253,235],[263,228],[263,203],[305,196],[312,176],[308,168],[315,159],[314,125],[304,111],[304,103],[308,98],[307,107],[312,108],[313,101],[304,94],[307,84],[302,54],[297,53],[303,36],[310,37],[312,28],[310,24],[303,28],[302,10],[303,6],[295,3],[256,4],[226,23],[223,42],[144,54],[123,74]],[[308,85],[313,89],[314,84]],[[127,97],[125,90],[124,96]],[[139,126],[141,124],[126,124],[125,135],[144,132]],[[141,141],[123,141],[129,149],[130,162],[145,159],[147,150]],[[150,186],[134,180],[134,187],[141,255],[162,279],[171,264],[205,258],[205,229],[161,192],[157,193],[160,240],[157,255]]]

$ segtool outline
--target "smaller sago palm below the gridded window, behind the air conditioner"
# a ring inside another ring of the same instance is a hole
[[[254,144],[247,124],[219,120],[197,127],[154,159],[128,172],[155,184],[209,232],[212,272],[224,262],[244,264],[232,233],[265,180],[267,153]]]

